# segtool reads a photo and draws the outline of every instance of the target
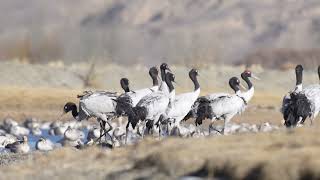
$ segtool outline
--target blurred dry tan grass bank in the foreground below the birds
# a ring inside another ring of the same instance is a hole
[[[203,139],[146,140],[128,148],[34,153],[0,167],[4,179],[320,178],[319,127]],[[41,165],[40,165],[41,164]]]

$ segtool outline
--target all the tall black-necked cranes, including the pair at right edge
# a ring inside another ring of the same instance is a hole
[[[302,65],[297,65],[295,72],[296,86],[283,98],[281,108],[284,125],[287,127],[301,126],[308,117],[312,124],[320,110],[320,84],[303,88]],[[212,93],[199,96],[200,84],[197,79],[199,72],[191,69],[189,78],[194,84],[194,89],[188,93],[176,95],[175,76],[168,64],[160,65],[160,84],[156,67],[150,68],[149,75],[153,83],[149,88],[133,91],[130,89],[129,80],[122,78],[120,85],[124,90],[123,94],[116,96],[113,92],[85,92],[79,96],[79,112],[74,103],[68,102],[64,106],[64,113],[71,111],[73,117],[79,121],[96,117],[100,122],[101,131],[104,132],[101,132],[99,140],[104,135],[111,137],[108,134],[113,128],[110,124],[111,120],[114,117],[123,116],[128,117],[126,134],[129,128],[135,129],[139,124],[142,127],[139,130],[142,137],[154,133],[158,133],[159,137],[163,134],[170,135],[173,130],[180,132],[181,123],[188,119],[194,119],[197,126],[201,125],[205,119],[209,119],[211,121],[209,132],[214,129],[212,127],[215,121],[224,120],[223,128],[218,132],[228,134],[228,124],[232,118],[244,112],[254,96],[255,89],[251,79],[260,80],[251,71],[245,70],[240,77],[246,83],[247,88],[241,84],[239,78],[231,77],[229,86],[234,94]],[[318,75],[320,79],[320,66]],[[108,130],[106,130],[106,124],[108,124]],[[164,133],[162,133],[163,125],[166,126]]]

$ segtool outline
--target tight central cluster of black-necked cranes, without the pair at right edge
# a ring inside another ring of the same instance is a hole
[[[191,117],[195,118],[195,124],[201,125],[206,118],[211,119],[212,126],[216,120],[224,120],[224,127],[221,134],[227,134],[227,124],[231,119],[243,112],[247,104],[254,95],[254,86],[250,78],[258,79],[251,71],[245,70],[241,78],[247,83],[248,90],[240,90],[240,80],[237,77],[230,78],[229,85],[234,90],[234,94],[215,93],[206,96],[200,95],[200,84],[197,76],[197,69],[191,69],[189,78],[194,84],[191,92],[177,94],[175,92],[175,76],[170,70],[168,64],[160,65],[160,86],[158,83],[158,70],[152,67],[149,75],[153,85],[150,88],[141,90],[131,90],[129,80],[122,78],[120,80],[121,88],[124,93],[116,96],[113,92],[84,92],[78,96],[79,112],[75,103],[68,102],[64,106],[64,113],[71,111],[73,117],[78,120],[88,119],[89,117],[97,118],[100,123],[101,137],[111,135],[108,132],[113,128],[110,124],[115,117],[128,117],[126,125],[126,134],[131,126],[135,129],[137,124],[142,126],[140,134],[142,137],[146,134],[158,133],[170,135],[173,129],[181,131],[180,124],[182,121]],[[243,87],[243,86],[242,86]],[[108,130],[105,125],[108,124]],[[166,126],[166,132],[161,133],[162,126]],[[209,128],[210,129],[210,128]],[[102,133],[102,131],[104,133]]]

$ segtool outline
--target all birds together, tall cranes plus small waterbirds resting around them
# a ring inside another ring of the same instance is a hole
[[[234,93],[204,96],[200,96],[197,69],[189,71],[194,89],[182,94],[176,94],[175,76],[169,66],[162,63],[159,70],[156,67],[150,68],[152,86],[144,89],[132,90],[130,81],[122,78],[120,86],[123,93],[120,95],[108,91],[84,91],[77,96],[78,106],[74,102],[67,102],[63,107],[61,117],[70,112],[75,121],[41,124],[31,118],[19,125],[7,118],[0,126],[0,148],[17,153],[29,152],[32,149],[28,143],[30,134],[40,137],[35,143],[35,149],[50,151],[61,146],[82,149],[94,144],[112,148],[136,143],[146,136],[159,139],[168,136],[202,137],[269,132],[280,128],[267,122],[261,125],[231,123],[235,115],[245,111],[254,96],[252,79],[259,78],[249,70],[240,74],[247,87],[241,84],[239,78],[231,77],[229,86]],[[302,126],[307,118],[312,124],[320,111],[320,84],[303,87],[301,65],[296,66],[295,73],[296,86],[284,96],[281,108],[285,127]],[[320,66],[318,76],[320,80]],[[82,122],[87,122],[84,120],[89,118],[95,118],[99,126],[88,124],[84,127]],[[194,123],[185,123],[189,119],[194,120]],[[208,130],[200,127],[205,120],[210,120]],[[214,125],[218,120],[223,120],[223,125]],[[49,136],[63,138],[53,142],[42,136],[43,129]]]

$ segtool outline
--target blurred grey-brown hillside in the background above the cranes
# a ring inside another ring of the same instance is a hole
[[[0,60],[320,63],[318,0],[2,0]]]

